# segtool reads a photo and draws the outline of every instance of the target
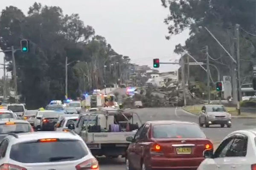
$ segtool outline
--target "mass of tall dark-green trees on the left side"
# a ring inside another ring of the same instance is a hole
[[[68,63],[73,62],[68,66],[68,95],[73,98],[103,86],[103,68],[111,62],[109,56],[119,56],[114,59],[123,65],[129,58],[117,54],[78,14],[64,15],[58,6],[34,3],[27,14],[15,6],[3,9],[0,48],[7,50],[13,45],[18,49],[22,39],[29,40],[29,53],[16,51],[15,60],[18,92],[28,108],[41,107],[51,99],[64,99],[66,57]],[[11,53],[6,52],[6,60],[12,71]],[[87,79],[86,88],[81,88],[83,76]]]

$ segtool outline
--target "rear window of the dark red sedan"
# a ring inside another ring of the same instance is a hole
[[[154,125],[154,138],[205,138],[198,125],[192,124],[168,124]]]

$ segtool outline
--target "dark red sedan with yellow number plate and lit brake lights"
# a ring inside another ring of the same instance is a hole
[[[146,122],[133,137],[126,155],[127,170],[196,170],[212,142],[192,122]]]

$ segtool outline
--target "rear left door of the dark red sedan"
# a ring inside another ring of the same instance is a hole
[[[148,129],[149,129],[150,125],[149,124],[145,124],[143,130],[141,131],[139,138],[137,139],[137,141],[135,142],[135,154],[134,154],[134,167],[136,167],[138,170],[141,169],[141,160],[143,160],[143,147],[146,147],[145,145],[143,145],[143,142],[146,142],[146,140],[148,138],[146,138],[147,134],[148,134]]]

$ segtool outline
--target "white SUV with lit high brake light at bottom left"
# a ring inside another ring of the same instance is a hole
[[[99,170],[73,132],[11,133],[0,144],[0,170]]]

